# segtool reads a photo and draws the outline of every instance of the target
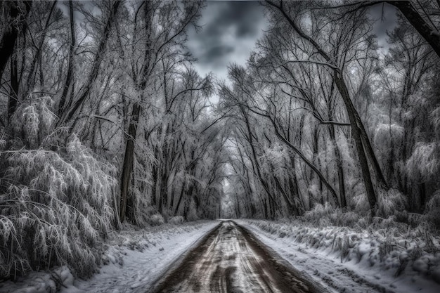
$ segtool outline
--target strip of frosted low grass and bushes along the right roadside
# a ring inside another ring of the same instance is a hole
[[[317,211],[325,211],[318,207]],[[390,271],[392,275],[408,273],[411,269],[417,275],[424,275],[438,282],[440,270],[440,237],[430,232],[428,226],[396,228],[393,217],[375,218],[367,229],[316,226],[301,217],[292,221],[240,220],[250,226],[273,234],[272,239],[285,242],[313,254],[325,254],[339,259],[341,263],[354,261],[356,267],[377,272]],[[281,240],[285,239],[285,240]],[[321,251],[321,252],[319,252]],[[333,258],[332,257],[332,258]],[[332,259],[333,263],[333,259]]]

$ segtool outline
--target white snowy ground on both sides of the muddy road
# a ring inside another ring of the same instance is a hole
[[[237,220],[292,266],[330,292],[440,292],[440,246],[432,252],[408,235],[380,235],[347,227],[295,226],[292,222]],[[148,292],[169,266],[219,221],[124,227],[105,245],[106,265],[89,280],[74,280],[65,266],[34,272],[18,282],[0,284],[0,292]],[[392,241],[387,241],[392,238]],[[415,256],[416,255],[416,256]]]

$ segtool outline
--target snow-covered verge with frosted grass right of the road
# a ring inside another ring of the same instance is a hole
[[[236,222],[333,292],[440,292],[438,237],[429,236],[433,247],[426,247],[422,240],[405,235],[381,236],[289,222]],[[427,252],[429,249],[432,253]],[[416,253],[418,257],[413,257]]]

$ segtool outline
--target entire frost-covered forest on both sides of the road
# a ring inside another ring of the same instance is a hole
[[[0,2],[0,280],[86,278],[127,225],[440,228],[440,2],[260,4],[221,80],[186,46],[204,1]]]

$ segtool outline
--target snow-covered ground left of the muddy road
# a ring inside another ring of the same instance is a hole
[[[89,280],[75,280],[66,267],[50,273],[34,272],[18,282],[0,283],[0,292],[148,292],[153,282],[179,256],[219,221],[198,221],[134,230],[126,227],[109,240],[99,273]]]

